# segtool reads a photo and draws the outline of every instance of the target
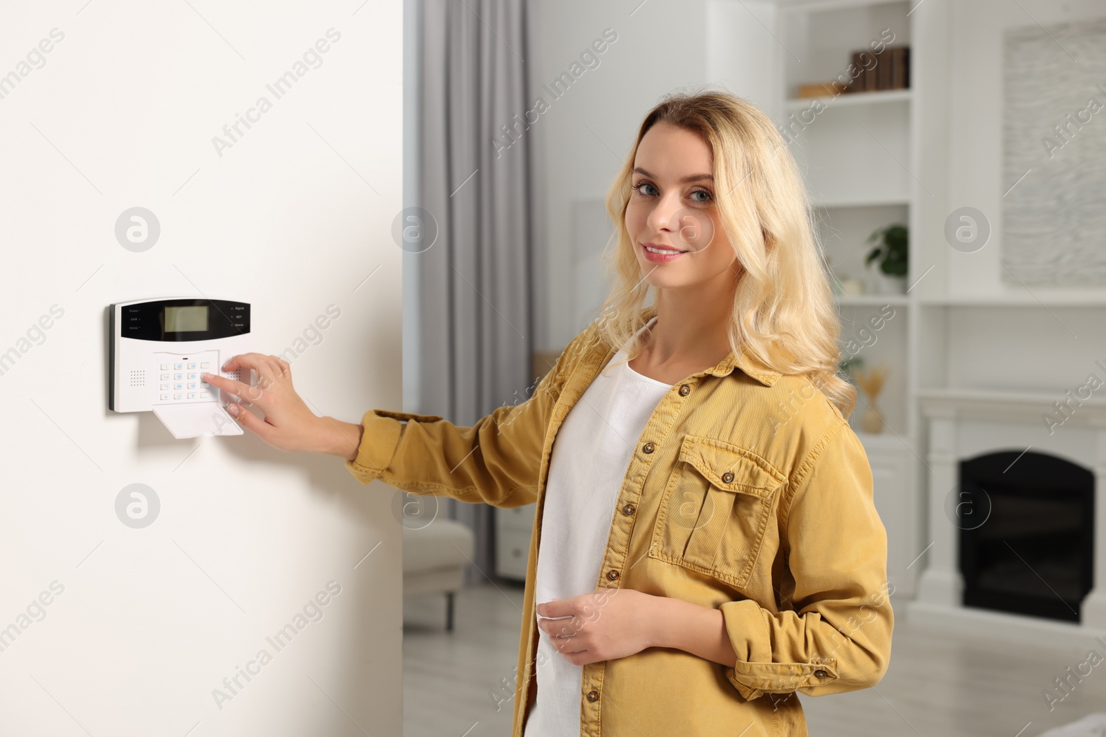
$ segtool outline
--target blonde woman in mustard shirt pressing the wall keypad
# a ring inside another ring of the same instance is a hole
[[[538,503],[513,737],[806,735],[795,693],[878,682],[894,623],[808,208],[762,112],[671,96],[607,198],[615,289],[525,402],[358,425],[311,412],[275,357],[226,366],[260,391],[209,381],[362,483]]]

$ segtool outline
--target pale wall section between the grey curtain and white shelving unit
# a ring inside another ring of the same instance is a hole
[[[641,118],[662,95],[707,82],[706,18],[705,0],[565,0],[539,8],[541,82],[552,82],[578,63],[605,29],[618,34],[597,55],[598,66],[582,74],[561,98],[543,95],[550,109],[536,124],[542,129],[535,139],[544,141],[546,208],[541,273],[547,323],[540,340],[549,349],[563,349],[587,326],[577,322],[573,308],[574,254],[585,248],[572,240],[573,200],[606,196]],[[602,251],[604,245],[599,241],[594,248]]]

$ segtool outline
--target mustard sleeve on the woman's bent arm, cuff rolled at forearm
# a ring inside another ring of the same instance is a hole
[[[751,599],[720,606],[738,656],[726,676],[748,699],[865,688],[890,660],[887,533],[864,445],[843,422],[811,456],[795,472],[786,522],[792,609],[772,612]]]

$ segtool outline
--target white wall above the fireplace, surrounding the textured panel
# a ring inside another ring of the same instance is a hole
[[[1002,42],[1013,29],[1103,18],[1106,3],[975,0],[952,2],[949,9],[948,178],[947,182],[938,182],[948,197],[943,208],[922,223],[922,236],[937,246],[927,256],[933,254],[939,269],[943,266],[949,296],[968,301],[1005,297],[1024,299],[1026,305],[948,308],[938,318],[943,322],[940,331],[946,336],[946,359],[930,365],[920,376],[924,386],[1035,390],[1054,393],[1061,400],[1070,388],[1085,385],[1089,372],[1099,372],[1096,361],[1103,358],[1106,330],[1100,306],[1062,307],[1057,303],[1065,298],[1102,299],[1106,289],[1043,285],[1026,288],[1002,280],[1002,197],[1012,183],[1003,180]],[[1057,40],[1063,43],[1063,35]],[[1095,96],[1093,90],[1087,94]],[[1056,118],[1066,112],[1055,110]],[[1077,151],[1077,144],[1073,143],[1070,150]],[[1042,160],[1047,161],[1044,157]],[[991,225],[990,241],[973,253],[946,248],[942,238],[943,218],[961,207],[978,208]],[[1043,242],[1041,248],[1048,249],[1050,244]],[[931,276],[942,278],[938,270]],[[940,282],[929,286],[940,286]],[[1037,299],[1047,308],[1041,307]]]

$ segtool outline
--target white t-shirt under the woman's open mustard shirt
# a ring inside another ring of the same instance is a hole
[[[611,364],[626,356],[620,349]],[[611,364],[568,411],[553,441],[535,604],[595,590],[634,448],[657,403],[671,389],[626,364],[608,368]],[[539,631],[538,701],[526,718],[524,737],[580,737],[584,668],[565,660],[549,638]]]

